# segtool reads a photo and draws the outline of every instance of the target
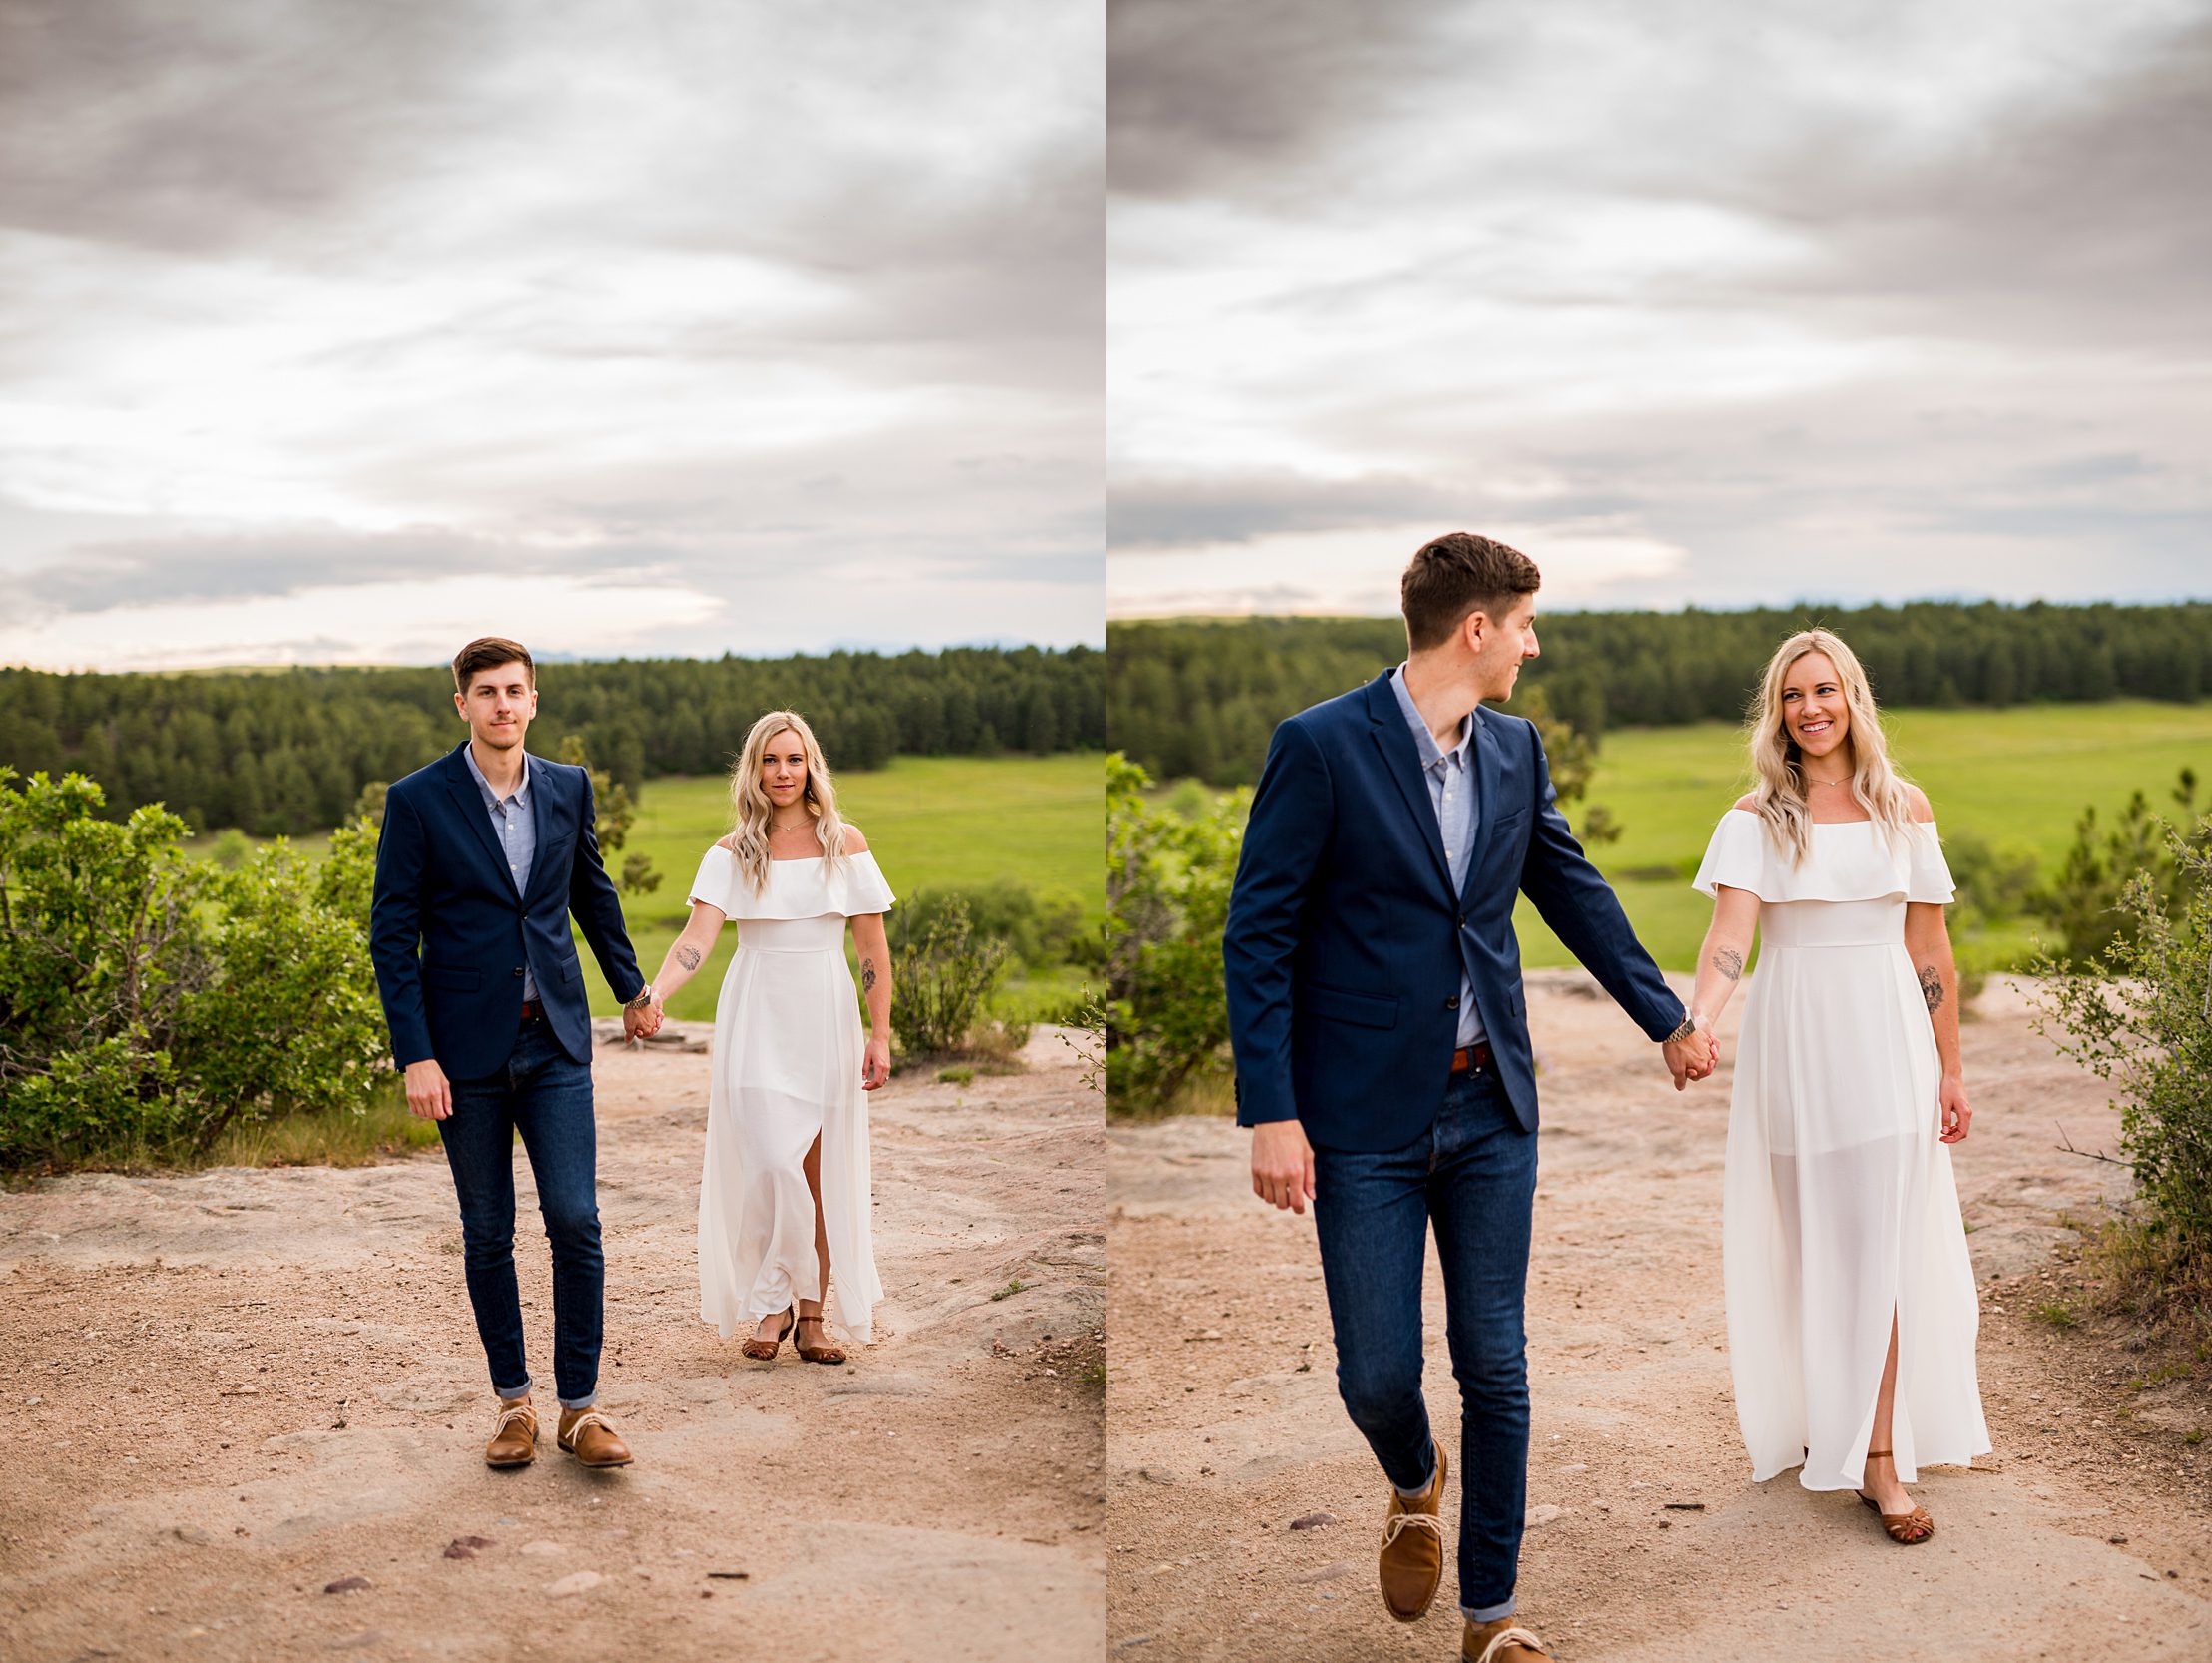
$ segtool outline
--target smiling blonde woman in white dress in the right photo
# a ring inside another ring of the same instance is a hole
[[[1798,1466],[1918,1544],[1936,1530],[1905,1491],[1918,1468],[1989,1451],[1949,1148],[1973,1121],[1951,874],[1829,630],[1767,663],[1750,745],[1759,785],[1697,874],[1714,907],[1690,1002],[1710,1026],[1756,929],[1721,1212],[1736,1420],[1754,1479]]]

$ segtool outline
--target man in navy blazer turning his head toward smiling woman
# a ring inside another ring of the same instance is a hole
[[[1522,1307],[1535,1059],[1513,902],[1661,1044],[1712,1073],[1694,1024],[1559,814],[1533,723],[1486,710],[1537,655],[1535,562],[1429,542],[1402,579],[1409,657],[1274,730],[1221,942],[1252,1188],[1314,1203],[1336,1380],[1391,1482],[1380,1583],[1400,1621],[1442,1579],[1444,1451],[1420,1393],[1433,1223],[1460,1382],[1464,1654],[1528,1663],[1513,1621],[1528,1482]]]

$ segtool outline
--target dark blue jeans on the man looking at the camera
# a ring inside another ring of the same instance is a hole
[[[553,1031],[524,1022],[507,1066],[456,1079],[453,1112],[438,1121],[460,1194],[460,1241],[476,1331],[491,1389],[531,1389],[515,1289],[515,1130],[538,1179],[538,1210],[553,1243],[553,1384],[562,1409],[599,1395],[599,1320],[606,1258],[599,1254],[599,1137],[591,1117],[591,1066],[573,1061]]]

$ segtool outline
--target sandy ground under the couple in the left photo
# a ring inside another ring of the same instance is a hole
[[[535,1466],[482,1464],[436,1150],[0,1194],[0,1656],[1097,1659],[1104,1117],[1068,1057],[1040,1028],[1026,1075],[876,1095],[887,1298],[827,1369],[697,1318],[706,1055],[602,1048],[619,1473],[551,1409]]]

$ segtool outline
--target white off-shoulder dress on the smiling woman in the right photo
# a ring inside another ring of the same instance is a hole
[[[1803,1464],[1807,1491],[1865,1484],[1874,1398],[1898,1320],[1898,1477],[1989,1451],[1966,1230],[1938,1141],[1942,1061],[1905,951],[1905,904],[1949,902],[1933,825],[1812,827],[1792,865],[1730,809],[1697,887],[1750,889],[1759,969],[1736,1039],[1721,1261],[1736,1420],[1752,1477]]]

